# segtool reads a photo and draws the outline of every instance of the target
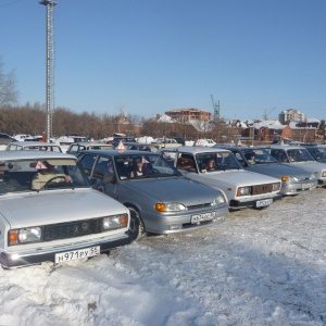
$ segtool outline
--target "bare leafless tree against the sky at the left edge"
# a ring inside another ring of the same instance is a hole
[[[14,71],[4,74],[3,62],[0,58],[0,106],[11,105],[17,102],[16,77]]]

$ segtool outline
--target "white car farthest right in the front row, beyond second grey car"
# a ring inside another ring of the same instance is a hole
[[[310,171],[318,180],[318,186],[326,186],[326,163],[317,162],[306,148],[273,145],[269,147],[269,153],[275,159],[280,156],[281,163],[286,165]]]

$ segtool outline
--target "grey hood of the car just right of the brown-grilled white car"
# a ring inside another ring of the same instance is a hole
[[[296,166],[288,166],[285,164],[255,164],[248,167],[251,172],[262,173],[266,175],[272,175],[275,177],[280,177],[283,175],[306,178],[311,176],[309,171],[305,171]]]

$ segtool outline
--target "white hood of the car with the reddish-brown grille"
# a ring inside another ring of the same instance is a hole
[[[190,177],[190,174],[187,174]],[[268,175],[258,174],[249,171],[226,171],[226,172],[211,172],[200,174],[199,177],[204,179],[222,180],[229,184],[239,185],[239,186],[251,186],[256,184],[268,184],[277,183],[279,179],[271,177]],[[198,178],[200,180],[200,178]]]

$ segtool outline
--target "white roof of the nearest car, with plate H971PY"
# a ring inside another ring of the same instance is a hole
[[[1,160],[74,159],[75,155],[47,151],[0,151]]]

